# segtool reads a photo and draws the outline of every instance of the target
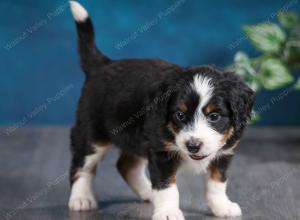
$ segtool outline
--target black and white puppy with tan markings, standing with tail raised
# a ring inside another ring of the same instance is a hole
[[[71,132],[69,208],[96,209],[96,165],[114,145],[121,152],[118,170],[141,199],[153,203],[153,219],[184,219],[175,178],[181,168],[207,173],[206,199],[215,216],[241,215],[226,195],[226,170],[254,92],[236,75],[212,67],[111,60],[95,46],[87,11],[70,4],[86,80]]]

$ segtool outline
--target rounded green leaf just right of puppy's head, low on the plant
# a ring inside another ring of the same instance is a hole
[[[287,67],[279,59],[274,58],[262,62],[258,79],[266,89],[277,89],[293,82],[293,76]]]

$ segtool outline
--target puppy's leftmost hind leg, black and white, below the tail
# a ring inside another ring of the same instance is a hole
[[[71,165],[71,195],[69,209],[87,211],[97,208],[94,193],[94,179],[97,162],[102,160],[110,148],[110,144],[90,144],[85,141],[72,140],[73,159]]]

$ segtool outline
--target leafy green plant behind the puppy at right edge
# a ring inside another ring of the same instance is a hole
[[[244,26],[246,36],[261,55],[250,58],[239,51],[228,67],[255,91],[279,89],[292,83],[300,91],[300,77],[295,79],[293,75],[300,68],[299,17],[295,12],[282,12],[278,21]],[[255,119],[259,119],[257,113]]]

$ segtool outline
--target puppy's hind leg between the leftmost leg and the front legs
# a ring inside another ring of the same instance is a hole
[[[146,176],[147,164],[144,158],[122,153],[117,168],[133,192],[142,200],[151,201],[152,187]]]

